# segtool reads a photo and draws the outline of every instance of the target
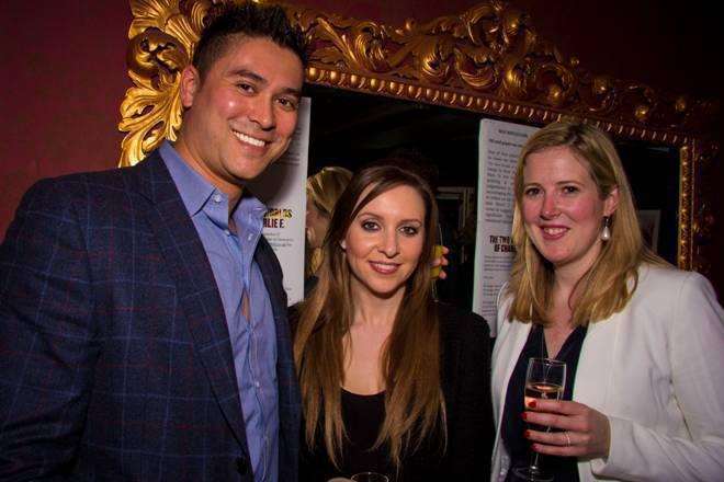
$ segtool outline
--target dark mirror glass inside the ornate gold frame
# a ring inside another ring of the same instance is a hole
[[[310,173],[326,165],[354,171],[395,153],[411,157],[431,173],[438,188],[443,242],[452,248],[451,276],[438,284],[439,296],[470,306],[483,116],[319,85],[309,85],[305,94],[312,97]],[[616,139],[615,144],[632,184],[644,237],[660,256],[676,264],[679,152],[652,141]]]

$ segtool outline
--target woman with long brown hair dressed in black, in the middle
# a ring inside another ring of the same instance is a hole
[[[489,330],[431,296],[437,216],[428,184],[399,165],[360,171],[338,200],[295,326],[301,480],[488,473]]]

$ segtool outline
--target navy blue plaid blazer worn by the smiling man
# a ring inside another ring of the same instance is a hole
[[[299,392],[276,323],[280,481],[297,480]],[[252,481],[211,265],[160,156],[44,180],[0,246],[0,480]]]

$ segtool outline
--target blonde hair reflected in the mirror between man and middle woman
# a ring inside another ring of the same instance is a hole
[[[337,199],[352,179],[352,172],[337,165],[321,168],[315,175],[307,177],[307,203],[314,203],[317,210],[331,218]],[[307,252],[306,275],[317,272],[321,264],[321,248],[310,248]]]

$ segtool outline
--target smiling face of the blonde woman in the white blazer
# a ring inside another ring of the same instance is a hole
[[[561,146],[530,154],[523,168],[525,231],[556,272],[565,268],[575,276],[596,261],[603,216],[613,214],[619,198],[613,190],[601,199],[584,162]]]

